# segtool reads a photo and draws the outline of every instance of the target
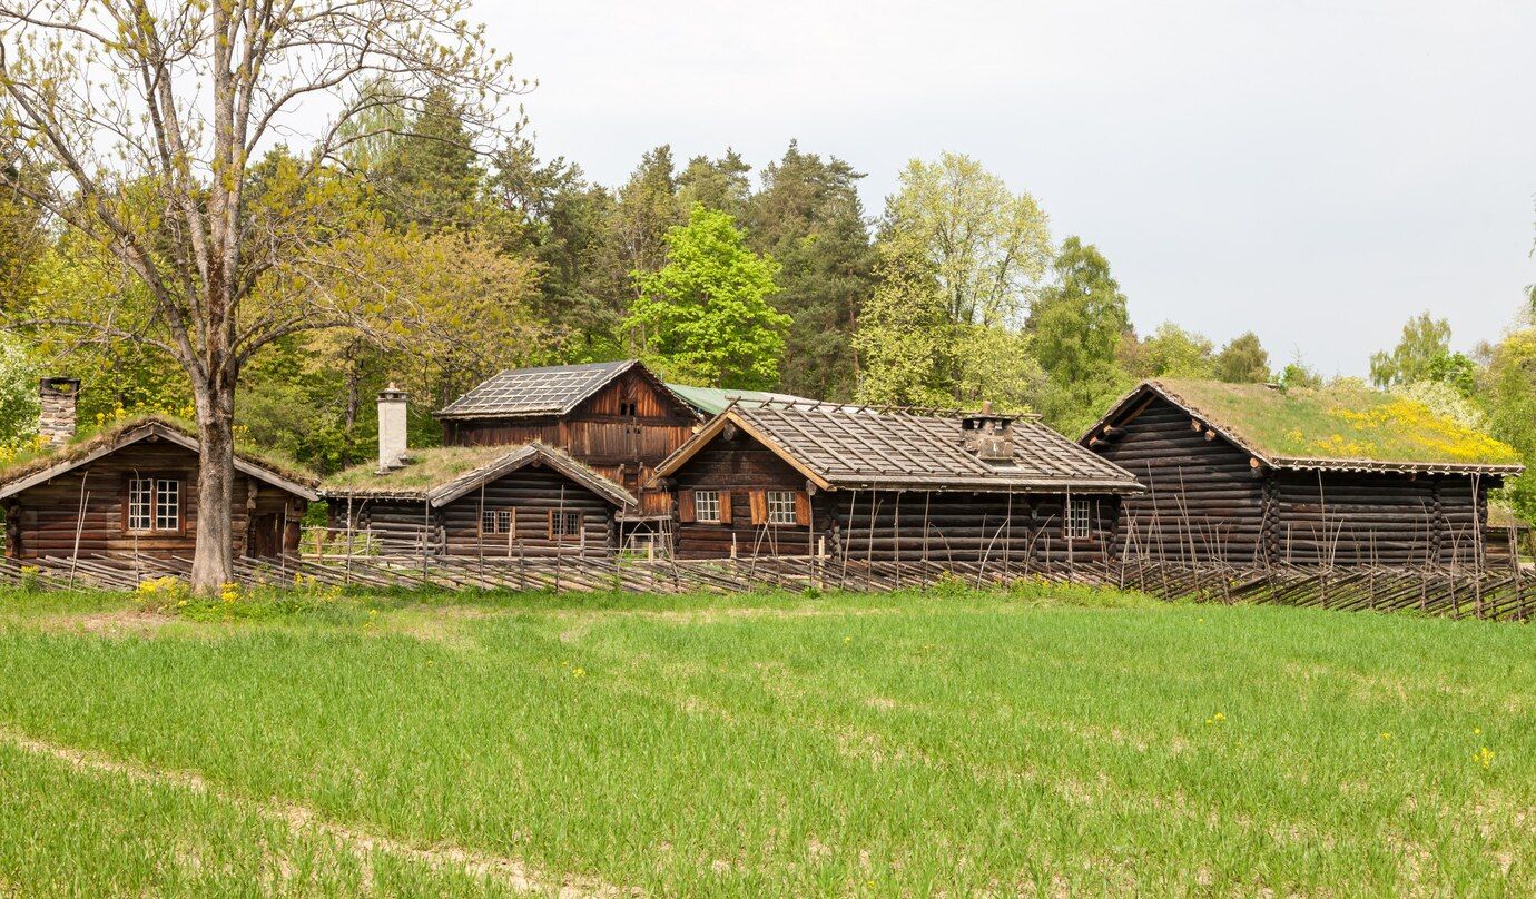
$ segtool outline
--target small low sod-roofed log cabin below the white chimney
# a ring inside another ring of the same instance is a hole
[[[412,450],[324,485],[332,551],[539,558],[613,555],[634,497],[542,443]]]

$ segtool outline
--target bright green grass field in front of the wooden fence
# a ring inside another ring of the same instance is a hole
[[[1527,626],[135,601],[0,594],[0,894],[1536,893]]]

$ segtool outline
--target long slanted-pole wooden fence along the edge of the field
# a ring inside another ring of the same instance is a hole
[[[190,558],[100,557],[0,560],[0,585],[38,589],[135,589],[158,577],[186,578]],[[1276,603],[1324,609],[1415,611],[1428,615],[1528,621],[1536,577],[1519,568],[1233,568],[1111,561],[1001,566],[937,561],[856,561],[833,557],[737,560],[465,558],[369,555],[235,561],[247,586],[432,588],[447,591],[750,592],[765,589],[926,591],[943,586],[1009,588],[1028,581],[1140,591],[1167,600]]]

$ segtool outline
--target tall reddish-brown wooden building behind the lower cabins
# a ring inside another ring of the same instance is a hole
[[[665,519],[671,499],[642,486],[700,422],[634,359],[502,371],[433,414],[445,446],[539,442],[568,453],[637,494],[630,522]]]

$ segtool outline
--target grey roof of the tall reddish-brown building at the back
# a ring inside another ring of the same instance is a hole
[[[510,368],[487,377],[433,414],[439,419],[565,416],[631,368],[639,370],[662,393],[671,394],[680,408],[693,410],[637,359],[625,359],[622,362]]]

